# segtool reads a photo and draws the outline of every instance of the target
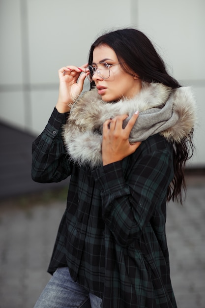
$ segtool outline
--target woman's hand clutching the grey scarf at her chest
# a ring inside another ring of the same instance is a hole
[[[129,143],[129,135],[139,113],[134,113],[125,128],[122,122],[128,115],[117,116],[105,121],[103,124],[102,160],[103,165],[122,160],[124,157],[134,153],[141,142]]]

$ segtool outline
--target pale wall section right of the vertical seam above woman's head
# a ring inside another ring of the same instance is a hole
[[[137,25],[155,42],[171,74],[195,93],[198,125],[191,164],[205,166],[205,0],[138,0]]]

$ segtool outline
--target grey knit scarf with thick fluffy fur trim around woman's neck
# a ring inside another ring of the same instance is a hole
[[[163,84],[144,83],[142,91],[134,98],[113,103],[104,102],[93,89],[72,105],[63,128],[63,140],[70,159],[91,168],[102,165],[103,123],[120,114],[132,116],[136,110],[140,114],[130,141],[143,141],[160,132],[169,141],[180,142],[189,136],[196,121],[195,99],[188,87],[173,90]],[[159,121],[161,113],[163,116]],[[142,128],[145,122],[146,127]]]

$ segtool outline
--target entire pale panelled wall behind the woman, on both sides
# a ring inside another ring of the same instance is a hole
[[[87,62],[103,30],[137,26],[199,105],[195,166],[205,165],[204,0],[0,0],[0,120],[40,133],[58,98],[58,69]]]

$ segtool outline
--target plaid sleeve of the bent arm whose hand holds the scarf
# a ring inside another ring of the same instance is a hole
[[[101,191],[103,219],[121,246],[130,245],[142,235],[156,207],[166,202],[167,188],[173,179],[170,150],[142,153],[126,176],[122,161],[93,172]]]

